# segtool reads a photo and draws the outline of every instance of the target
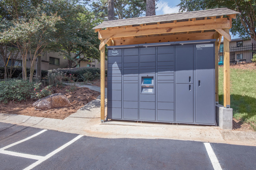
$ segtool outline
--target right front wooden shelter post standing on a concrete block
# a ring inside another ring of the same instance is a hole
[[[229,29],[225,28],[224,31],[229,34]],[[223,65],[224,65],[224,107],[230,108],[230,67],[229,67],[229,41],[223,38]]]

